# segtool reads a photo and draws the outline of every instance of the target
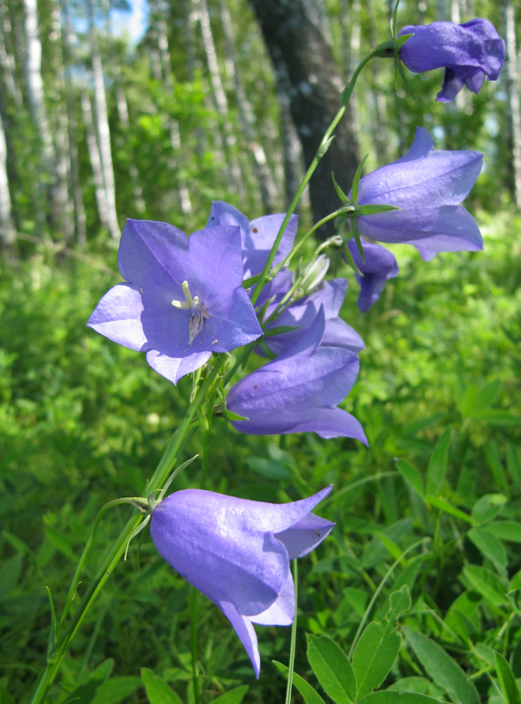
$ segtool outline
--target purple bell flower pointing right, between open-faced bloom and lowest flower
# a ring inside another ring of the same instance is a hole
[[[295,345],[232,386],[226,408],[247,418],[232,420],[234,428],[250,435],[316,432],[367,444],[358,420],[336,408],[356,381],[359,358],[345,348],[321,345],[325,325],[321,307]]]

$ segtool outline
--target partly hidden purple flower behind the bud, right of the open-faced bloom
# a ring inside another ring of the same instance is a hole
[[[321,306],[323,306],[325,327],[321,344],[329,347],[344,347],[353,352],[364,349],[364,340],[339,315],[346,291],[346,279],[330,279],[323,282],[314,293],[291,303],[274,322],[268,325],[266,332],[277,327],[294,327],[295,329],[272,336],[266,335],[264,338],[266,346],[276,356],[288,351],[311,327]],[[269,315],[275,307],[276,301],[269,306],[266,314]]]

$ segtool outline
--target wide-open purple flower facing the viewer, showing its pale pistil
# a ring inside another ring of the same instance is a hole
[[[176,384],[207,362],[259,337],[241,286],[240,230],[207,227],[186,237],[165,222],[127,220],[117,263],[127,283],[101,299],[87,325]]]

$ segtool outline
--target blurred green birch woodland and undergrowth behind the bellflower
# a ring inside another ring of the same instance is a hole
[[[98,510],[141,491],[188,403],[190,379],[174,387],[144,356],[85,327],[121,280],[125,220],[163,220],[189,233],[205,226],[212,199],[249,219],[283,211],[357,63],[390,37],[391,10],[378,0],[0,0],[2,704],[30,701],[45,662],[45,586],[59,614]],[[392,62],[371,62],[300,220],[304,232],[339,206],[331,171],[348,191],[361,158],[369,155],[366,170],[389,163],[422,125],[437,149],[485,155],[465,201],[484,252],[424,263],[411,247],[392,248],[400,275],[364,316],[352,275],[333,261],[332,272],[349,277],[342,315],[366,341],[343,408],[364,425],[370,447],[314,434],[249,438],[216,420],[209,487],[290,501],[335,485],[319,513],[337,529],[301,561],[297,672],[309,674],[304,631],[328,633],[347,650],[394,559],[430,536],[435,547],[404,559],[382,589],[378,614],[391,589],[407,584],[409,627],[450,641],[482,700],[498,704],[468,639],[502,638],[508,655],[521,637],[515,609],[501,601],[501,589],[521,588],[521,12],[510,0],[402,0],[398,27],[474,16],[506,38],[499,81],[444,105],[435,102],[442,70],[408,74],[413,100]],[[444,510],[425,503],[396,463],[425,477],[440,437]],[[195,436],[188,455],[199,449]],[[193,465],[174,488],[197,482]],[[446,510],[470,515],[489,495],[504,498],[495,504],[500,517],[518,526],[499,529],[496,562]],[[105,514],[84,584],[127,515]],[[469,582],[469,563],[481,582]],[[463,609],[462,595],[475,610]],[[474,630],[454,617],[456,599]],[[189,603],[188,585],[146,534],[89,612],[49,702],[146,702],[141,667],[191,702]],[[281,700],[285,684],[269,661],[287,662],[289,631],[258,629],[257,683],[224,617],[200,605],[203,702],[244,683],[249,691],[230,701]],[[427,612],[452,615],[451,634]],[[404,646],[387,684],[420,677],[420,665]],[[453,700],[430,684],[422,691]]]

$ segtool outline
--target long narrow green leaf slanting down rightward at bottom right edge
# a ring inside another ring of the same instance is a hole
[[[448,655],[435,641],[420,633],[406,629],[406,639],[425,672],[446,689],[456,704],[480,704],[480,695],[470,682],[458,663]]]

